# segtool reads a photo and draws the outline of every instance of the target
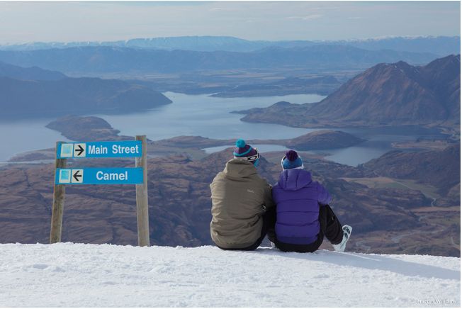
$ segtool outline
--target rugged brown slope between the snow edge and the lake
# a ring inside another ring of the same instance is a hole
[[[159,146],[148,146],[153,245],[211,244],[209,184],[230,159],[232,149],[203,159],[191,159],[184,154],[188,151],[170,147],[159,154]],[[283,152],[266,153],[261,158],[259,174],[270,184],[276,183],[281,172],[282,155]],[[334,196],[332,207],[340,220],[354,226],[351,241],[354,251],[460,257],[460,200],[451,199],[444,208],[430,207],[432,198],[418,188],[395,184],[369,187],[349,179],[376,177],[373,171],[315,159],[307,153],[302,155],[314,179]],[[134,163],[127,159],[81,159],[78,163],[69,160],[69,164],[133,167]],[[0,200],[0,242],[48,241],[53,167],[53,164],[0,167],[0,195],[4,196]],[[65,242],[118,245],[137,242],[133,186],[68,186],[64,211]]]

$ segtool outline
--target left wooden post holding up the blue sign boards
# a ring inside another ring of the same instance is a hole
[[[56,142],[56,161],[55,161],[55,178],[53,184],[55,184],[57,169],[66,168],[67,159],[58,159],[57,152],[60,149],[59,145],[63,142]],[[51,213],[51,230],[50,230],[50,244],[55,242],[61,242],[62,232],[62,214],[64,212],[64,196],[66,194],[66,188],[64,184],[55,184],[53,187],[53,206]]]

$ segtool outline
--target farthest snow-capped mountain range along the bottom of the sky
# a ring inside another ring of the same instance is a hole
[[[365,50],[398,50],[429,52],[436,55],[460,53],[460,36],[388,37],[352,40],[244,40],[230,36],[180,36],[167,38],[134,38],[106,42],[32,42],[0,45],[0,50],[43,50],[85,46],[113,46],[160,50],[194,50],[201,52],[254,52],[265,47],[307,47],[312,45],[347,45]]]

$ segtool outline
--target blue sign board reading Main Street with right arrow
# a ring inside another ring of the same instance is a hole
[[[140,140],[114,142],[63,142],[58,145],[57,158],[141,157]]]

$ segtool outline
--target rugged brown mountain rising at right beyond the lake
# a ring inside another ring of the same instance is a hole
[[[450,55],[424,67],[377,64],[319,103],[277,103],[244,111],[242,120],[298,127],[458,124],[460,62],[460,55]]]

